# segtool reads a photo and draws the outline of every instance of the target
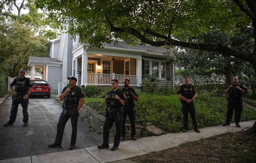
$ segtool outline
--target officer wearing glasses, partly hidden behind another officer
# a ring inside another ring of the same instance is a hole
[[[122,125],[122,134],[121,134],[121,141],[124,140],[125,138],[125,120],[126,120],[126,116],[128,114],[129,119],[130,119],[130,123],[131,123],[131,139],[132,140],[137,140],[135,138],[135,134],[136,134],[136,128],[135,128],[135,111],[134,111],[134,100],[138,101],[138,95],[135,92],[135,90],[129,86],[130,84],[130,80],[129,79],[125,79],[123,81],[124,84],[124,88],[122,88],[122,91],[124,92],[126,99],[128,101],[128,106],[124,106],[124,121],[123,121],[123,125]]]

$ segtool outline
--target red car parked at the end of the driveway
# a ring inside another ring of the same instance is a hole
[[[33,89],[31,95],[44,95],[47,98],[51,97],[50,84],[46,80],[31,80]]]

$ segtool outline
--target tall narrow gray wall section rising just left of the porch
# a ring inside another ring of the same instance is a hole
[[[72,75],[72,45],[72,36],[70,34],[66,34],[62,54],[62,81]]]

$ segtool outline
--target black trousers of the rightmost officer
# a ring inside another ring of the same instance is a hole
[[[226,122],[230,123],[235,108],[235,122],[239,122],[243,111],[243,101],[241,99],[229,99],[228,100],[228,111],[226,116]]]

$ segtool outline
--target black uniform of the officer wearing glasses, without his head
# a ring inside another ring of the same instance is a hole
[[[121,134],[121,137],[125,137],[125,120],[126,120],[126,116],[128,114],[129,116],[129,119],[130,119],[130,122],[131,122],[131,137],[134,137],[135,134],[136,134],[136,128],[135,128],[135,111],[134,111],[134,107],[135,107],[135,104],[134,104],[134,98],[131,94],[131,92],[138,97],[136,91],[131,88],[131,87],[128,87],[128,89],[126,88],[122,88],[122,91],[124,92],[125,96],[126,96],[126,99],[128,101],[128,106],[124,106],[124,121],[123,121],[123,125],[122,125],[122,134]]]

